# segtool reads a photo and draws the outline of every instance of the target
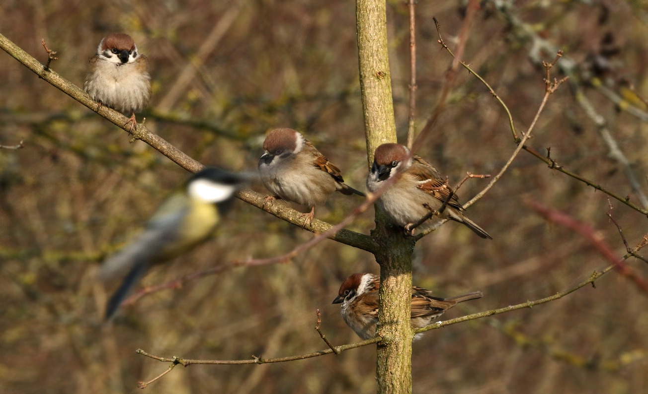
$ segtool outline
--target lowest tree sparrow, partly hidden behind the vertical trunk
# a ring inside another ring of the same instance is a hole
[[[343,281],[333,303],[341,303],[340,314],[345,323],[362,339],[376,336],[378,323],[378,287],[380,277],[374,274],[353,274]],[[459,302],[481,298],[480,291],[450,298],[434,297],[430,290],[411,287],[411,327],[430,325],[443,312]],[[416,334],[415,339],[421,338]]]

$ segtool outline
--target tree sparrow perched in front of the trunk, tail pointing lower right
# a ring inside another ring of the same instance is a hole
[[[430,213],[426,204],[433,210],[439,210],[450,195],[450,187],[439,175],[439,171],[418,155],[411,155],[410,149],[400,144],[382,144],[374,153],[371,172],[367,177],[367,188],[376,192],[397,170],[402,171],[400,179],[391,184],[376,201],[378,207],[385,212],[393,223],[403,226],[408,232],[410,226]],[[409,157],[409,158],[408,158]],[[404,161],[406,160],[406,161]],[[463,223],[482,238],[492,239],[480,226],[473,223],[461,211],[456,193],[452,193],[450,201],[440,217]],[[421,231],[434,226],[434,221],[423,222]]]

